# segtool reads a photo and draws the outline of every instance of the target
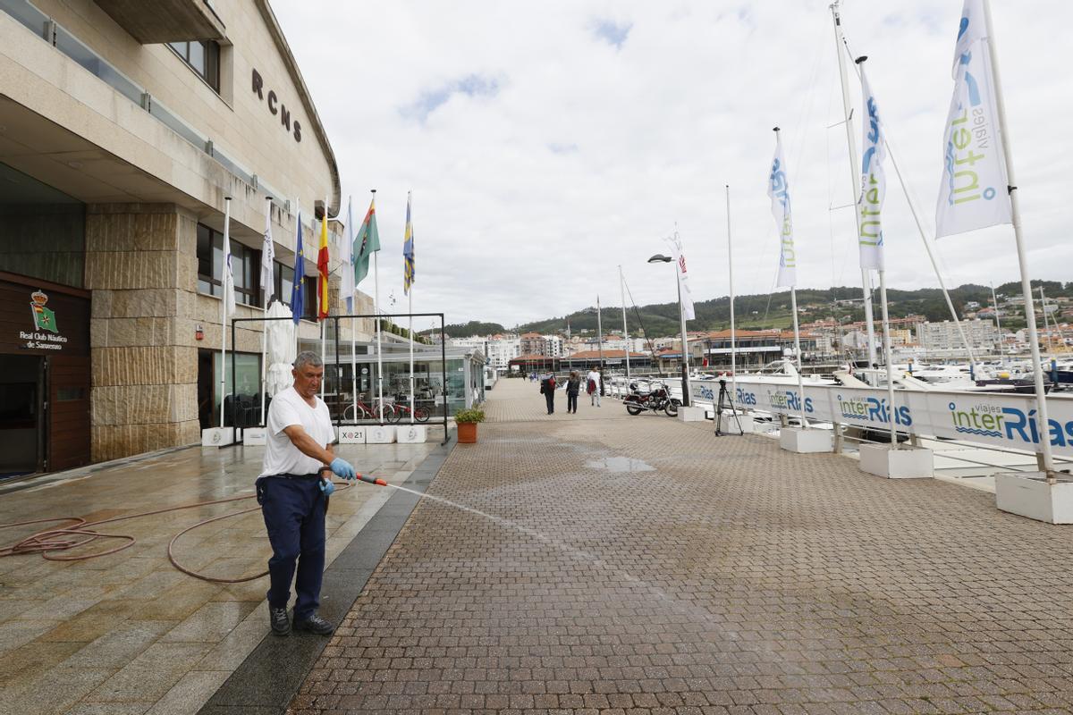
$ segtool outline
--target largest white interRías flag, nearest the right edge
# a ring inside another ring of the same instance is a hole
[[[965,0],[943,131],[936,237],[1011,223],[983,0]]]

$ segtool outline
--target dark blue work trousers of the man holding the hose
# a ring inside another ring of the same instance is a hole
[[[261,477],[258,494],[273,555],[268,560],[268,606],[286,608],[291,579],[297,600],[294,617],[308,619],[321,600],[324,576],[324,494],[319,478]]]

